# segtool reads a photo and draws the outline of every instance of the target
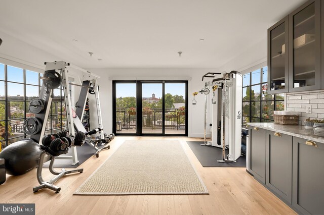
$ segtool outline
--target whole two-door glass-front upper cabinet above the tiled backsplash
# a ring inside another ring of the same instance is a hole
[[[309,0],[268,29],[268,93],[324,89],[323,5]]]

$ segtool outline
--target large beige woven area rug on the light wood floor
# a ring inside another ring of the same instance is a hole
[[[179,141],[125,141],[74,195],[208,194]]]

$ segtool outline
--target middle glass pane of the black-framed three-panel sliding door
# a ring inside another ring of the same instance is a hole
[[[142,83],[142,134],[163,133],[163,83]]]

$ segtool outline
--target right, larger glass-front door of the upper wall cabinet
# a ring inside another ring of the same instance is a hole
[[[320,0],[289,15],[289,91],[320,89]]]

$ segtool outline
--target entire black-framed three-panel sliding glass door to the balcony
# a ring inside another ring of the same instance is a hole
[[[187,106],[187,81],[113,81],[113,132],[187,136]]]

